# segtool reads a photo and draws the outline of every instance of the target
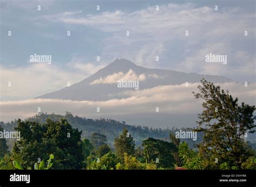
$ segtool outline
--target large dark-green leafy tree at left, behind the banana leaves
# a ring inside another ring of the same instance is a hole
[[[12,156],[23,168],[32,168],[35,162],[47,160],[50,154],[55,156],[52,169],[82,168],[82,132],[72,128],[65,119],[48,119],[43,125],[19,119],[15,130],[22,137],[14,146]]]

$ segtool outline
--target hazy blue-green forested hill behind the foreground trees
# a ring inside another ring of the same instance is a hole
[[[178,129],[174,127],[171,130],[161,128],[153,129],[146,126],[131,126],[127,125],[124,121],[120,123],[119,121],[112,119],[86,119],[85,117],[73,116],[70,112],[66,112],[65,116],[54,113],[39,113],[36,116],[33,116],[26,120],[37,121],[38,123],[43,124],[48,118],[54,121],[60,120],[62,118],[67,119],[73,127],[78,128],[78,130],[82,131],[82,139],[90,139],[90,136],[93,132],[104,134],[107,137],[107,144],[110,147],[113,147],[114,138],[119,136],[124,128],[127,128],[129,133],[133,136],[136,146],[140,146],[142,144],[142,141],[149,137],[169,141],[170,132],[174,133],[178,131]],[[17,120],[11,121],[11,123],[3,123],[1,121],[0,125],[5,130],[11,131],[14,129],[14,127],[17,126]],[[184,128],[182,130],[185,131],[186,129]],[[192,139],[184,140],[187,141],[191,147],[195,147],[196,143],[201,141],[201,139],[202,134],[198,133],[197,141],[193,141]]]

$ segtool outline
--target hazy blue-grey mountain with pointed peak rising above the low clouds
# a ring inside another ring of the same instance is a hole
[[[111,78],[122,77],[122,75],[126,75],[126,77],[139,77],[139,75],[141,75],[142,81],[139,81],[140,90],[157,87],[159,85],[178,85],[185,82],[196,83],[200,82],[201,78],[205,78],[207,81],[213,83],[232,82],[231,79],[223,76],[183,73],[165,69],[149,69],[137,66],[126,59],[116,59],[109,64],[109,66],[100,69],[97,73],[85,78],[83,81],[36,98],[70,100],[108,100],[126,98],[126,96],[119,94],[120,89],[117,87],[117,82],[93,84],[93,81],[103,81],[107,76],[109,76],[108,78],[110,80]],[[122,91],[125,90],[134,90],[134,88],[122,89]]]

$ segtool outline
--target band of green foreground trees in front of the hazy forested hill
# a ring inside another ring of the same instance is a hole
[[[114,139],[111,149],[106,136],[100,133],[92,133],[91,140],[82,140],[82,132],[66,119],[48,119],[44,124],[18,120],[15,130],[23,134],[22,139],[15,142],[9,153],[7,146],[2,146],[5,154],[1,155],[0,169],[256,169],[255,153],[246,144],[241,164],[231,166],[227,162],[235,159],[231,155],[226,155],[226,162],[205,159],[200,149],[197,152],[172,133],[170,141],[147,138],[136,147],[132,134],[125,128]],[[44,167],[42,163],[49,155],[51,165]]]

